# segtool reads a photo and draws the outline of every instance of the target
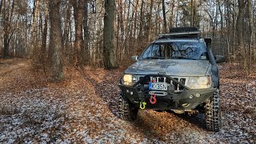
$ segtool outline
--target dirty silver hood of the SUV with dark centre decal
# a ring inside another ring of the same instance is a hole
[[[210,62],[188,59],[146,59],[135,62],[125,74],[166,74],[171,76],[210,75]]]

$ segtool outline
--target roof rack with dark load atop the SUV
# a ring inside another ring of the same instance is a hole
[[[159,38],[200,38],[201,32],[196,27],[171,27],[170,33],[158,34]]]

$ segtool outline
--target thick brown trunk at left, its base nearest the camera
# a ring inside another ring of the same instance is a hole
[[[54,82],[62,82],[64,79],[62,71],[62,24],[60,15],[60,4],[62,0],[50,1],[50,47],[53,54],[51,58],[51,79]]]

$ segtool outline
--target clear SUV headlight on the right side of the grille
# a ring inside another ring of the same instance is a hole
[[[190,77],[187,86],[190,89],[206,89],[210,88],[210,77]]]

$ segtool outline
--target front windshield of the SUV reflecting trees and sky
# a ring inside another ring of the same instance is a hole
[[[141,59],[208,59],[203,43],[168,42],[151,43],[143,52]]]

